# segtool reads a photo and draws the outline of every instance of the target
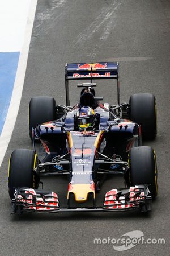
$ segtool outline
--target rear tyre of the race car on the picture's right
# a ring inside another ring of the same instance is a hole
[[[151,93],[139,93],[130,97],[129,116],[141,125],[144,139],[154,139],[157,133],[156,100]]]

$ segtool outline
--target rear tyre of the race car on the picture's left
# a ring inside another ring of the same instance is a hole
[[[56,119],[56,101],[52,97],[33,97],[29,102],[29,136],[32,128]]]

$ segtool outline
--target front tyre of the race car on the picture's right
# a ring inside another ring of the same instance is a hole
[[[155,151],[151,147],[134,147],[129,153],[129,185],[151,184],[152,198],[158,195]]]

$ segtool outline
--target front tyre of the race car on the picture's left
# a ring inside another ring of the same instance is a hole
[[[15,198],[14,187],[38,187],[39,177],[33,171],[37,162],[37,155],[33,150],[18,149],[12,152],[8,165],[8,189],[11,199]]]

